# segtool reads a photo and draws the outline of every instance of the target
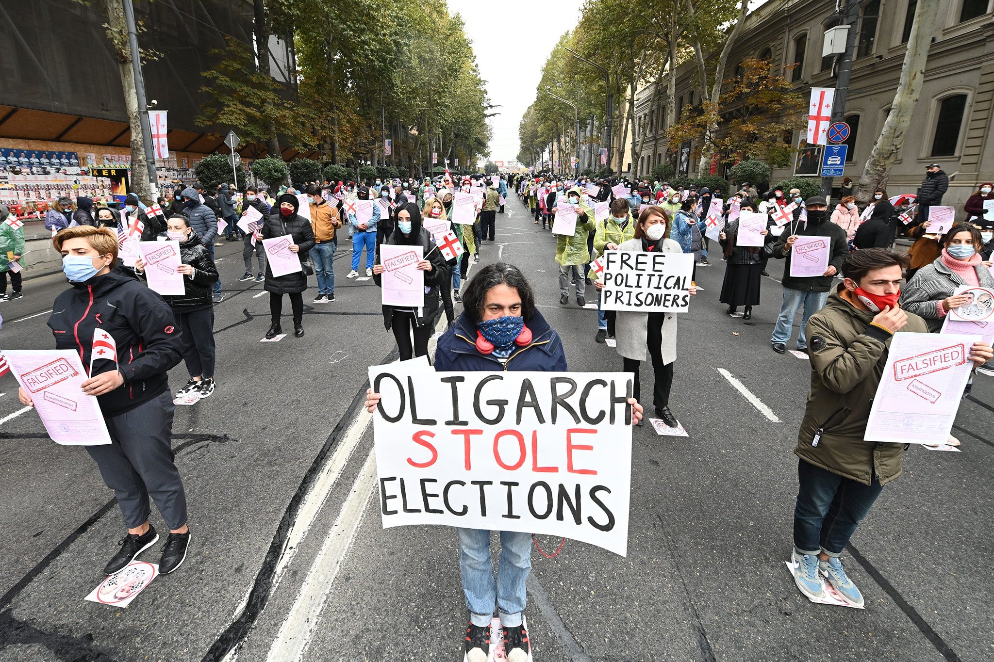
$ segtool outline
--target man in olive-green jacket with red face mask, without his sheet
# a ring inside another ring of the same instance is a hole
[[[868,442],[867,421],[897,331],[927,333],[924,320],[898,307],[908,257],[884,248],[850,253],[842,285],[808,320],[811,391],[797,435],[799,488],[794,507],[794,582],[823,596],[821,577],[850,603],[863,596],[839,556],[884,485],[902,472],[904,445]],[[994,352],[977,342],[970,360]]]

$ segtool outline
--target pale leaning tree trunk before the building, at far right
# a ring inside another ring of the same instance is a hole
[[[866,203],[877,189],[887,186],[891,168],[905,144],[905,134],[911,126],[911,115],[921,94],[925,61],[928,59],[931,36],[935,29],[938,4],[939,0],[918,0],[914,9],[914,23],[908,38],[905,62],[901,67],[898,92],[894,95],[891,112],[884,122],[880,137],[874,143],[856,190],[856,199],[861,203]]]

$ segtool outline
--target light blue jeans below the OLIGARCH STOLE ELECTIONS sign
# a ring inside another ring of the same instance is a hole
[[[500,565],[494,582],[490,556],[490,531],[456,529],[459,532],[459,574],[466,596],[469,620],[486,627],[494,606],[505,627],[521,625],[528,596],[525,582],[532,570],[532,536],[516,531],[500,531]]]

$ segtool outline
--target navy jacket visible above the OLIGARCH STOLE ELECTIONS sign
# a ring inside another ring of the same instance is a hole
[[[438,338],[434,369],[441,372],[566,372],[566,354],[559,333],[553,331],[538,311],[527,327],[532,331],[532,341],[524,347],[515,347],[507,362],[501,363],[493,354],[481,354],[477,350],[476,325],[463,312]]]

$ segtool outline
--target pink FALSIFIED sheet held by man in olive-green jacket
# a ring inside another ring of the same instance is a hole
[[[891,340],[864,439],[942,444],[952,429],[978,335],[909,333]]]

